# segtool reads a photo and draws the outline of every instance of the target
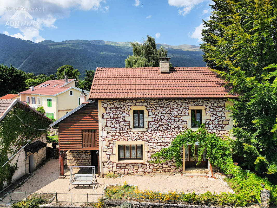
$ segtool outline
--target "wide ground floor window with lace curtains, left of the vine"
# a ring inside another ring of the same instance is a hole
[[[119,144],[118,159],[140,159],[142,160],[142,144]]]

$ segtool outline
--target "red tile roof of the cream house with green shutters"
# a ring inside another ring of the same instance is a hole
[[[73,81],[75,79],[68,79],[68,83],[70,81]],[[49,84],[46,87],[40,87],[43,84]],[[34,87],[34,90],[31,91],[29,90],[25,90],[23,92],[20,92],[19,94],[40,94],[40,95],[55,95],[57,93],[63,92],[65,90],[67,90],[70,87],[66,87],[66,85],[64,87],[61,87],[65,84],[65,80],[64,79],[59,79],[59,80],[48,80],[46,82],[43,82],[37,86]],[[56,85],[56,86],[55,86]],[[54,87],[55,86],[55,87]]]

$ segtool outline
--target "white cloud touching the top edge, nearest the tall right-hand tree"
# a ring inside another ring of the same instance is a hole
[[[180,9],[178,13],[184,16],[188,14],[193,7],[204,1],[206,0],[168,0],[168,4],[170,6],[183,7],[183,9]]]

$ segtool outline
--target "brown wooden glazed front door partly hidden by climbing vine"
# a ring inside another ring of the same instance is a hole
[[[198,155],[198,146],[195,145],[195,149],[192,145],[185,146],[184,165],[185,168],[207,168],[206,152],[203,155]],[[198,157],[201,157],[200,164],[198,163]]]

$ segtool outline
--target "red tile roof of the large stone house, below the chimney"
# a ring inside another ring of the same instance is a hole
[[[223,84],[207,67],[97,68],[89,99],[236,97]]]

